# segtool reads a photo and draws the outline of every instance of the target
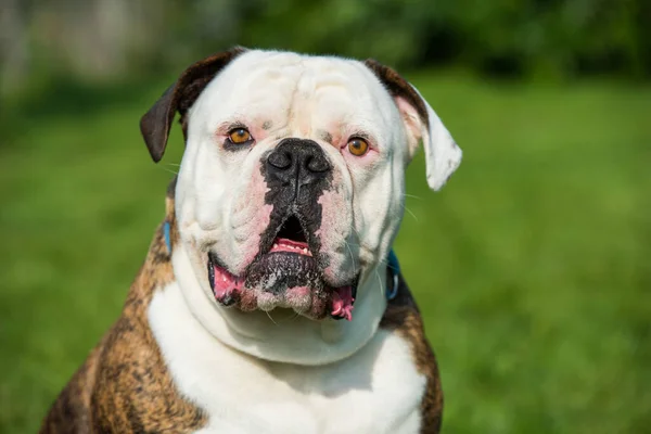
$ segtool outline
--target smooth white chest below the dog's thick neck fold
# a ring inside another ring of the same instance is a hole
[[[177,387],[208,416],[200,433],[420,430],[425,379],[398,335],[380,331],[350,358],[306,368],[219,344],[187,309],[176,284],[154,296],[149,317]]]

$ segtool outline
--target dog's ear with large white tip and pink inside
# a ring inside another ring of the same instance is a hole
[[[394,69],[369,59],[365,64],[394,98],[409,139],[409,158],[422,141],[427,165],[427,184],[439,190],[461,164],[461,149],[420,92]]]

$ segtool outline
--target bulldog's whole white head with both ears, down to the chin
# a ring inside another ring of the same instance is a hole
[[[350,319],[357,292],[383,279],[418,143],[434,189],[461,158],[420,94],[374,62],[243,50],[202,61],[143,117],[156,161],[177,111],[181,242],[212,303],[244,311]]]

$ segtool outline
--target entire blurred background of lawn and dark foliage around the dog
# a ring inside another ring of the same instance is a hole
[[[464,151],[396,250],[445,433],[651,433],[651,2],[3,0],[0,432],[117,318],[178,169],[138,122],[233,43],[398,67]]]

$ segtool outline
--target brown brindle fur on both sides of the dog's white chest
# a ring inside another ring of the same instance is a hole
[[[166,199],[173,248],[178,242],[173,181]],[[190,433],[206,424],[202,411],[176,390],[148,323],[154,292],[174,281],[163,225],[158,227],[122,316],[61,392],[40,433]],[[414,301],[400,277],[380,324],[404,337],[426,378],[421,433],[438,433],[443,394],[434,354]]]

